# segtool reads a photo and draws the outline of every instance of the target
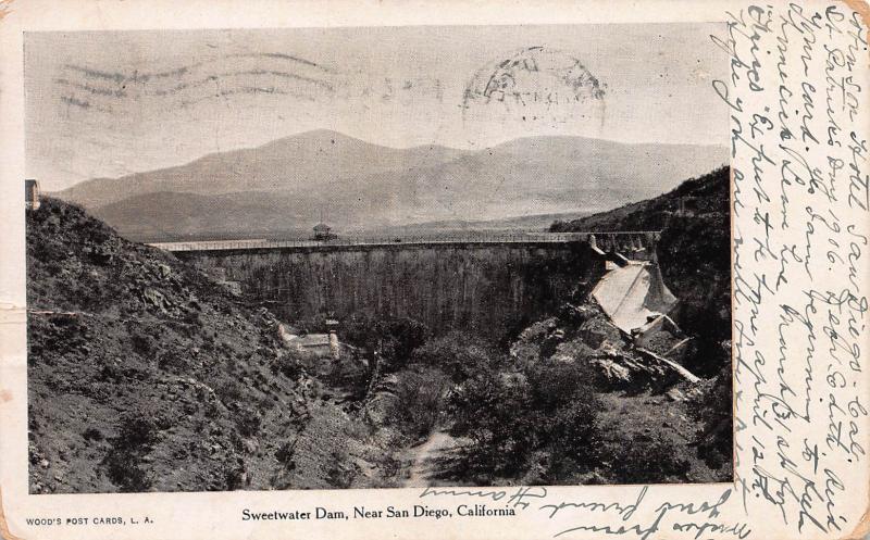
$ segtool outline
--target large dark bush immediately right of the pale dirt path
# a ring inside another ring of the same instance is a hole
[[[472,439],[467,467],[532,481],[587,470],[599,453],[600,403],[577,363],[533,363],[524,373],[481,371],[456,392],[455,434]],[[537,480],[535,480],[537,479]]]

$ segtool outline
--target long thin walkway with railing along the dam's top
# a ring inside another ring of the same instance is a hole
[[[166,251],[223,251],[253,249],[303,249],[384,246],[437,246],[445,243],[567,243],[586,242],[596,238],[657,238],[658,230],[580,231],[580,233],[469,233],[422,236],[341,236],[328,240],[204,240],[184,242],[151,242],[149,246]]]

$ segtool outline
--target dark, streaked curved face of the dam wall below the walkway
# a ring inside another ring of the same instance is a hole
[[[500,338],[605,272],[586,242],[442,243],[176,252],[223,273],[287,322],[328,314],[411,317],[436,332]]]

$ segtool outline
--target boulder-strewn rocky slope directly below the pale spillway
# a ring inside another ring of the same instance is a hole
[[[594,428],[584,439],[592,447],[589,463],[566,467],[558,463],[566,455],[551,455],[544,466],[531,467],[524,484],[731,479],[731,462],[721,457],[730,456],[731,425],[716,434],[718,439],[707,428],[710,416],[730,419],[730,386],[725,395],[711,397],[720,379],[687,378],[676,363],[637,349],[594,302],[566,304],[554,317],[530,326],[511,346],[510,355],[533,382],[552,369],[582,374],[570,377],[571,392],[597,409]],[[540,393],[556,397],[559,387]],[[707,416],[699,413],[698,403],[709,405]],[[554,470],[547,473],[547,467]]]

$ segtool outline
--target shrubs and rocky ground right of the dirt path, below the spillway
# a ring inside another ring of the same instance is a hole
[[[428,482],[731,477],[730,460],[703,432],[707,418],[721,413],[708,399],[713,381],[695,388],[649,364],[594,304],[567,304],[527,327],[509,351],[457,331],[428,338],[408,356],[398,350],[407,348],[385,349],[364,411],[373,425],[401,434],[406,445],[432,434],[455,440],[427,467]]]

